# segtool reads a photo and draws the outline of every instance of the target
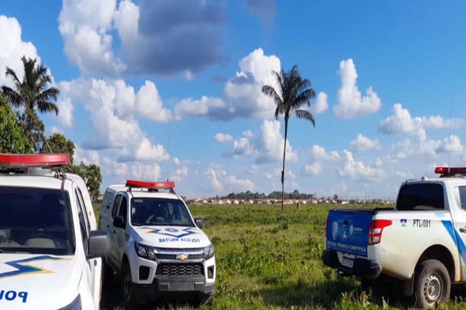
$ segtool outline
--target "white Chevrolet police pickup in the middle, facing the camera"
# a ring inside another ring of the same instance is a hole
[[[214,247],[200,229],[173,182],[128,180],[109,186],[99,225],[111,236],[105,278],[121,275],[125,303],[160,297],[209,301],[214,294]],[[164,191],[165,190],[165,191]]]

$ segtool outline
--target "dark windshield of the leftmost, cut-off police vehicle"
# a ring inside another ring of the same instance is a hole
[[[67,192],[0,186],[0,214],[0,252],[74,253]]]

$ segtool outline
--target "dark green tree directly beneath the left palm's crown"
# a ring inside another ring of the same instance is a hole
[[[44,141],[46,141],[44,134],[45,125],[37,116],[35,110],[26,109],[23,114],[17,112],[17,124],[23,129],[23,133],[30,141],[34,152],[40,153],[44,146]],[[47,143],[45,147],[47,147]]]

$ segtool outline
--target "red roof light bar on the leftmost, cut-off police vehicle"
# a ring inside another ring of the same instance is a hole
[[[60,167],[70,164],[68,154],[0,154],[0,167]]]

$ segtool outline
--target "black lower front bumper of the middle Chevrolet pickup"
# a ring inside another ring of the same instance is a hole
[[[151,284],[133,283],[133,294],[138,297],[154,299],[161,295],[180,293],[186,296],[211,294],[214,292],[215,283],[206,283],[204,277],[189,279],[154,278]]]

